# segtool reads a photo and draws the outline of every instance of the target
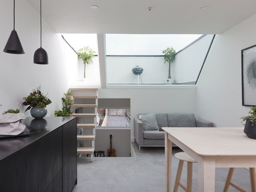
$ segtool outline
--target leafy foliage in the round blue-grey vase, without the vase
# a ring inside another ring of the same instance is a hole
[[[30,110],[32,107],[40,107],[45,108],[46,105],[49,105],[52,103],[50,99],[48,99],[48,96],[44,96],[41,92],[41,86],[39,86],[36,89],[33,89],[33,91],[27,96],[22,98],[24,102],[22,103],[23,106],[27,106],[25,112],[27,110]]]

